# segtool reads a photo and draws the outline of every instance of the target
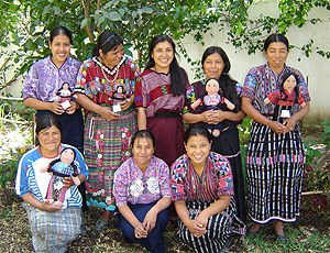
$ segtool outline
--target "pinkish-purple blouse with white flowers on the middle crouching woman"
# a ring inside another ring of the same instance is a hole
[[[143,174],[133,157],[125,161],[114,174],[113,195],[117,206],[151,204],[162,197],[170,198],[169,168],[155,156]]]

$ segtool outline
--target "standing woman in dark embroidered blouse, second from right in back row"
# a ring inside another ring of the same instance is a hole
[[[212,151],[223,155],[229,160],[233,184],[234,184],[234,199],[238,206],[239,218],[246,221],[245,210],[245,194],[244,194],[244,178],[242,172],[241,150],[238,124],[242,122],[245,113],[241,110],[242,86],[229,76],[230,61],[226,52],[219,46],[208,47],[201,57],[201,66],[206,74],[204,80],[194,82],[186,92],[186,103],[184,108],[184,120],[188,123],[209,123],[218,124],[221,122],[222,131],[218,138],[212,138]],[[200,98],[206,92],[206,81],[210,78],[216,78],[220,82],[223,97],[230,100],[235,106],[235,111],[229,110],[226,105],[221,110],[206,111],[198,107],[194,110],[190,105]]]

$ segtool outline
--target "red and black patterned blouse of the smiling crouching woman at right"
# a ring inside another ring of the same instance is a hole
[[[201,177],[187,154],[172,165],[172,199],[212,201],[220,196],[233,195],[230,164],[222,155],[210,152]]]

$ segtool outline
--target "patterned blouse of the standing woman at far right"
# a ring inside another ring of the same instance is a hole
[[[310,101],[307,84],[301,73],[295,68],[285,66],[283,72],[277,76],[268,64],[253,67],[249,70],[241,96],[252,99],[253,107],[262,114],[273,114],[276,107],[275,103],[264,103],[264,99],[274,90],[279,89],[283,82],[283,76],[286,73],[295,73],[298,76],[299,94],[305,101]],[[299,105],[293,106],[293,113],[299,110]]]

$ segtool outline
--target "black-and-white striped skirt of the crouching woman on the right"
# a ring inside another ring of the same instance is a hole
[[[189,201],[187,202],[187,209],[189,217],[195,220],[198,215],[206,208],[208,208],[213,201]],[[243,235],[245,233],[244,223],[237,217],[235,204],[231,199],[230,206],[222,212],[217,213],[209,218],[207,224],[207,232],[196,238],[188,228],[178,220],[178,237],[188,243],[195,252],[220,252],[221,249],[229,241],[232,233]]]

